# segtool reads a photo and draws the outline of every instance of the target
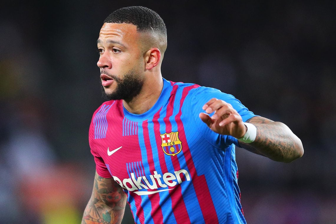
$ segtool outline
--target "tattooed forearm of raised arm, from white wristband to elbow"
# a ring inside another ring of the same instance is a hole
[[[257,137],[249,144],[239,142],[243,148],[282,162],[291,162],[302,156],[301,140],[285,124],[263,117],[253,117],[247,122],[257,127]]]

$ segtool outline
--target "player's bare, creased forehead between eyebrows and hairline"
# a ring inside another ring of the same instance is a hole
[[[118,39],[123,42],[136,42],[139,33],[133,24],[104,23],[99,32],[98,42],[106,39]]]

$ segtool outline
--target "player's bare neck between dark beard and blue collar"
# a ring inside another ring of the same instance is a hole
[[[140,93],[129,100],[123,100],[125,109],[132,114],[143,114],[159,99],[163,88],[162,76],[145,81]]]

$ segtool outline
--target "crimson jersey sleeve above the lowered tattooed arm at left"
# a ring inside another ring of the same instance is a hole
[[[93,155],[94,162],[96,164],[97,174],[99,176],[103,177],[103,178],[111,178],[112,176],[111,176],[109,170],[107,169],[103,159],[101,158],[101,156],[99,155],[99,153],[97,152],[97,150],[95,148],[93,119],[91,121],[90,129],[89,129],[89,145],[90,145],[90,149],[91,149],[91,154]]]

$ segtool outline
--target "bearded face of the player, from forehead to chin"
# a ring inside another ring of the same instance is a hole
[[[131,99],[143,84],[140,35],[132,24],[104,23],[97,47],[100,80],[108,99]]]

